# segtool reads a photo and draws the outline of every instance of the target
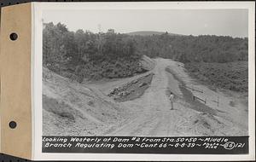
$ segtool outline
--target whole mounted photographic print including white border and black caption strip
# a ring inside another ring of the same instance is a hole
[[[252,3],[33,8],[37,159],[252,159]]]

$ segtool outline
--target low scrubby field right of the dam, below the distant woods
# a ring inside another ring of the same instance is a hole
[[[236,61],[229,63],[187,63],[185,68],[192,77],[208,85],[233,90],[248,91],[248,62]]]

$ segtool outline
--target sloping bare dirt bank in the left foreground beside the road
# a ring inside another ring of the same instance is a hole
[[[63,131],[62,136],[99,136],[109,125],[125,119],[125,108],[101,91],[72,82],[46,68],[43,70],[43,109],[44,135],[51,136],[59,134],[60,125],[63,130],[69,130]]]

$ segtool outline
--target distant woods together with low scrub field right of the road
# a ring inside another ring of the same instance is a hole
[[[192,77],[218,88],[247,92],[248,39],[223,36],[134,36],[149,57],[183,62]]]

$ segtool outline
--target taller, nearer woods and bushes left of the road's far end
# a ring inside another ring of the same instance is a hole
[[[82,82],[84,78],[123,78],[144,72],[135,40],[107,33],[70,32],[58,23],[44,24],[44,67]]]

